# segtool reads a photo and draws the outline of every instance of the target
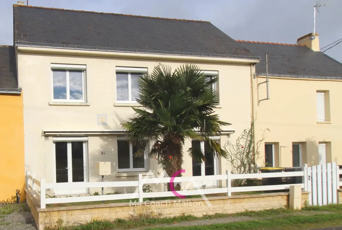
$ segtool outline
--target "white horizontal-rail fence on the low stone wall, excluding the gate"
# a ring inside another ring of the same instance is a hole
[[[174,182],[193,182],[193,181],[210,181],[210,180],[225,180],[226,187],[197,189],[197,190],[183,190],[177,191],[180,195],[204,195],[215,193],[226,193],[228,196],[232,192],[250,192],[250,191],[267,191],[267,190],[284,190],[289,189],[293,184],[280,184],[280,185],[263,185],[263,186],[243,186],[231,187],[231,181],[234,179],[253,179],[253,178],[286,178],[286,177],[302,177],[303,181],[307,178],[307,168],[303,167],[302,171],[298,172],[272,172],[272,173],[249,173],[249,174],[231,174],[226,171],[223,175],[208,175],[197,177],[176,177]],[[34,174],[27,172],[27,190],[38,199],[40,208],[45,208],[46,204],[57,203],[73,203],[73,202],[89,202],[89,201],[107,201],[118,199],[138,199],[143,202],[143,198],[150,197],[168,197],[175,196],[173,192],[143,192],[144,184],[158,184],[169,183],[170,178],[147,178],[143,179],[142,174],[138,174],[137,181],[111,181],[111,182],[73,182],[73,183],[46,183],[44,178],[37,180]],[[300,184],[303,189],[306,189],[307,183]],[[40,193],[38,192],[40,187]],[[112,195],[99,195],[99,196],[77,196],[77,197],[56,197],[46,198],[47,189],[62,189],[62,188],[94,188],[94,187],[136,187],[135,193],[126,194],[112,194]]]

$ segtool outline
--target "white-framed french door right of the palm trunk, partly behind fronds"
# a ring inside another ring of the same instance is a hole
[[[217,157],[213,155],[213,153],[209,152],[209,148],[207,143],[200,141],[192,141],[192,148],[201,149],[204,152],[204,156],[206,158],[205,162],[200,162],[192,159],[192,169],[193,176],[204,176],[204,175],[217,175],[218,174],[218,160]],[[205,185],[206,187],[218,186],[217,180],[209,180],[209,181],[194,181],[194,187],[201,187]]]

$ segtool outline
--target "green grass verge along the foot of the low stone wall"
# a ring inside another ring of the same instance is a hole
[[[328,212],[328,214],[321,213],[322,211]],[[293,215],[295,213],[309,213],[308,215]],[[312,215],[310,215],[312,214]],[[110,221],[92,221],[86,225],[71,226],[71,227],[53,227],[45,230],[98,230],[98,229],[132,229],[153,227],[157,224],[170,224],[175,222],[193,221],[200,219],[216,219],[224,217],[260,217],[267,218],[265,220],[252,220],[222,223],[212,226],[189,226],[189,227],[171,227],[171,228],[156,228],[155,230],[173,230],[173,229],[190,229],[190,230],[220,230],[220,229],[298,229],[327,226],[327,225],[342,225],[342,205],[327,205],[327,206],[310,206],[305,207],[303,210],[292,211],[285,208],[268,209],[262,211],[244,211],[235,214],[221,214],[205,215],[202,217],[195,217],[193,215],[180,215],[175,217],[158,217],[151,216],[150,214],[143,214],[140,216],[132,216],[130,219],[116,219],[113,222]],[[304,226],[304,227],[303,227]]]

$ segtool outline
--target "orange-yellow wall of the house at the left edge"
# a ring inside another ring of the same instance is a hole
[[[16,189],[24,195],[22,94],[0,94],[0,111],[0,201],[6,201],[15,196]]]

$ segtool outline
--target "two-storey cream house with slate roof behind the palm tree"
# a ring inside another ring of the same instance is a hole
[[[100,181],[96,161],[111,162],[106,181],[161,172],[155,159],[132,158],[135,148],[120,125],[138,106],[137,77],[160,63],[172,68],[193,63],[207,76],[219,77],[213,86],[220,92],[216,112],[233,125],[215,140],[224,145],[249,127],[251,71],[260,58],[209,22],[24,5],[14,5],[13,11],[19,86],[25,92],[25,169],[37,178]],[[184,149],[192,144],[206,152],[204,143],[190,140]],[[227,160],[213,157],[201,164],[185,153],[183,168],[185,176],[215,175],[229,166]],[[195,185],[203,183],[219,185]]]

